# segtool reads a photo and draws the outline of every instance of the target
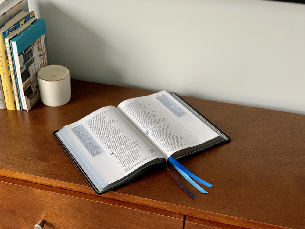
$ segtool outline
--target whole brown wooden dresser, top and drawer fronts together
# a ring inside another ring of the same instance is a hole
[[[0,110],[0,228],[305,228],[305,115],[184,97],[232,139],[182,162],[209,194],[158,169],[96,195],[52,131],[151,93],[72,80],[64,106]]]

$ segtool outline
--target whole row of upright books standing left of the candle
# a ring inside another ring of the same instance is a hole
[[[0,13],[0,109],[29,111],[40,99],[36,72],[48,65],[45,20],[27,0],[6,0]]]

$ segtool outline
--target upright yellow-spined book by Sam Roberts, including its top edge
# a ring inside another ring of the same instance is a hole
[[[15,100],[13,95],[13,86],[10,78],[9,61],[5,49],[5,37],[11,32],[20,27],[28,20],[34,17],[34,11],[32,12],[20,12],[9,20],[2,28],[0,28],[0,75],[2,81],[2,88],[5,98],[6,108],[9,110],[16,110]]]

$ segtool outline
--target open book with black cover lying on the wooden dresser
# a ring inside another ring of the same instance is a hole
[[[230,140],[175,93],[161,91],[102,107],[53,135],[96,194],[147,169]]]

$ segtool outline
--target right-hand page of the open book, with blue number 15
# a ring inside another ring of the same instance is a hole
[[[166,159],[178,150],[218,136],[166,91],[125,100],[117,108],[158,146]]]

